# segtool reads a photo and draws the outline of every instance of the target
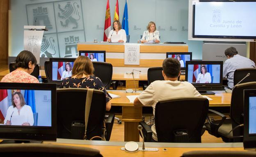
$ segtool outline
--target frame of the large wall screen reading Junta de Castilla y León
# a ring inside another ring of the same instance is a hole
[[[230,0],[199,0],[199,2],[256,2],[255,0],[241,0],[241,1],[230,1]],[[192,22],[192,38],[216,38],[216,39],[256,39],[256,36],[231,36],[231,35],[195,35],[195,7],[193,4],[193,22]]]

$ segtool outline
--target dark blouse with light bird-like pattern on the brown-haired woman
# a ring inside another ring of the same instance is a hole
[[[109,100],[112,99],[112,97],[107,93],[101,79],[91,75],[80,79],[67,77],[62,80],[59,88],[94,88],[105,93],[106,102],[109,102]]]

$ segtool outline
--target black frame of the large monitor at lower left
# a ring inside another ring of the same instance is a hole
[[[51,91],[52,126],[7,126],[0,125],[0,139],[24,141],[56,141],[57,110],[56,84],[39,83],[0,83],[0,89],[41,90]]]

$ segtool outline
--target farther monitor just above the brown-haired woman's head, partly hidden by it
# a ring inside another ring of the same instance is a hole
[[[93,62],[106,62],[106,51],[79,51],[79,56],[85,55]]]

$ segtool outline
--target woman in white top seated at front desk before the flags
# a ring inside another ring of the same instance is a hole
[[[108,34],[107,42],[126,42],[126,31],[121,29],[119,20],[115,20],[112,25],[113,29]],[[114,38],[119,37],[119,39]]]

